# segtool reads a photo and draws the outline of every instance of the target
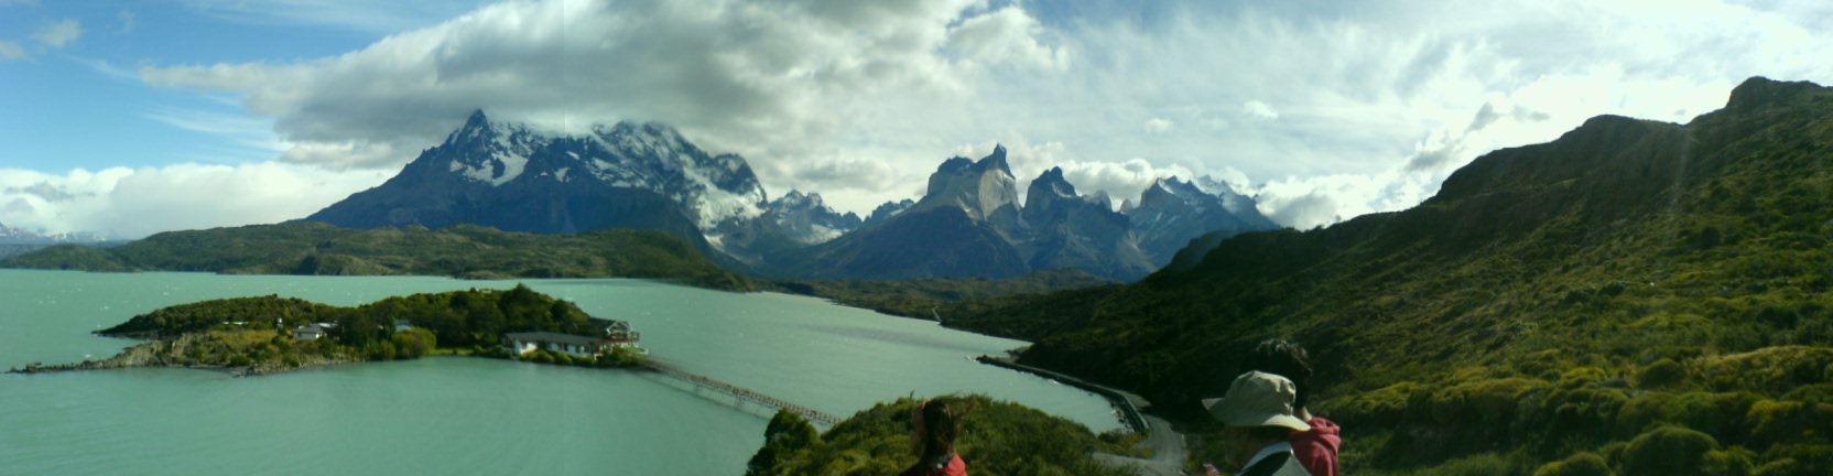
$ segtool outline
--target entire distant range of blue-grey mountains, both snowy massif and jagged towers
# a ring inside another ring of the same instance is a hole
[[[1206,233],[1276,229],[1252,198],[1175,178],[1136,207],[1080,196],[1052,168],[1021,207],[1004,146],[951,157],[920,200],[871,216],[840,214],[819,194],[770,200],[744,157],[709,154],[676,130],[618,123],[550,137],[477,112],[401,174],[306,220],[370,229],[475,223],[521,233],[664,231],[770,276],[1006,278],[1080,269],[1135,280]]]

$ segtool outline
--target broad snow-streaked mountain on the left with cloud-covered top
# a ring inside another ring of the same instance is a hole
[[[599,201],[605,198],[618,200]],[[484,223],[533,233],[636,225],[687,234],[675,223],[686,220],[700,234],[693,242],[706,238],[719,247],[724,233],[742,229],[766,207],[744,157],[708,154],[667,124],[598,124],[568,135],[475,112],[401,176],[313,220],[348,227]]]

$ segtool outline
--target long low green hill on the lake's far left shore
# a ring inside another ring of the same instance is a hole
[[[121,247],[59,245],[0,267],[211,271],[229,275],[434,275],[460,278],[654,278],[750,289],[680,238],[609,229],[583,234],[447,229],[341,229],[317,222],[172,231]]]

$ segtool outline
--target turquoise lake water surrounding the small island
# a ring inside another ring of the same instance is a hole
[[[973,362],[1023,346],[825,300],[642,280],[521,280],[643,333],[653,357],[810,408],[986,394],[1118,428],[1092,394]],[[511,287],[429,276],[0,269],[0,368],[114,355],[92,331],[205,298],[354,306]],[[770,408],[623,370],[436,357],[236,379],[209,370],[0,375],[0,474],[742,474]]]

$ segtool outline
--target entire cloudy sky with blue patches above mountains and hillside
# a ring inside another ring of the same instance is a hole
[[[137,238],[299,218],[471,110],[662,121],[772,196],[867,212],[1012,150],[1136,198],[1208,176],[1292,227],[1752,75],[1833,81],[1811,0],[0,0],[0,223]]]

